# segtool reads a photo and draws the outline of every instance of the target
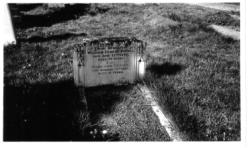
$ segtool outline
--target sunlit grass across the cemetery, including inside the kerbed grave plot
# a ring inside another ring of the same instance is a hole
[[[147,43],[144,83],[155,92],[159,104],[172,115],[188,140],[238,141],[240,42],[221,36],[208,27],[210,24],[237,28],[240,22],[227,12],[187,4],[95,4],[89,12],[73,19],[17,28],[17,37],[22,42],[4,49],[5,86],[72,80],[75,43],[85,37],[135,36]],[[52,38],[54,34],[73,32],[83,36]],[[51,40],[30,40],[37,36]],[[97,134],[86,137],[168,140],[151,109],[140,105],[145,102],[140,97],[142,94],[135,93],[135,86],[115,89],[88,94],[91,100],[102,100],[91,102],[91,121],[77,111],[84,131],[94,128],[111,131],[110,137]],[[101,93],[102,97],[97,95]],[[111,105],[104,100],[112,102]],[[99,109],[94,111],[94,108]]]

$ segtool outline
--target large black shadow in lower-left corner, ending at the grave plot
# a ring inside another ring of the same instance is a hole
[[[4,86],[4,141],[82,140],[72,81]]]

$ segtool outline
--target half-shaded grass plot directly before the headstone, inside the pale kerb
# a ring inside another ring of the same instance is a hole
[[[107,140],[170,140],[136,85],[88,88],[86,97],[92,123],[112,136]]]

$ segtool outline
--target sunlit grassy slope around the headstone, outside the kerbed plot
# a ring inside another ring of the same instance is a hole
[[[239,26],[238,21],[227,13],[184,4],[99,7],[109,10],[51,27],[22,30],[19,36],[79,31],[88,37],[142,39],[147,42],[149,64],[145,83],[157,92],[160,104],[181,131],[190,140],[240,140],[239,41],[207,27],[212,23]],[[5,50],[5,80],[18,84],[19,80],[40,83],[72,79],[71,47],[82,39],[23,43],[15,54]],[[125,103],[128,101],[122,106]],[[128,114],[123,111],[123,115]],[[113,118],[119,112],[114,111]]]

